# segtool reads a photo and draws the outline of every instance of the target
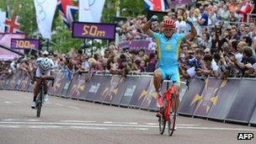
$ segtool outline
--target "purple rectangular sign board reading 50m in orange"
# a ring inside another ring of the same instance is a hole
[[[115,40],[115,24],[73,22],[72,37]]]

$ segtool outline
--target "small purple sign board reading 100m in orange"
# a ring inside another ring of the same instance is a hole
[[[12,39],[12,49],[40,49],[40,41],[35,39]]]

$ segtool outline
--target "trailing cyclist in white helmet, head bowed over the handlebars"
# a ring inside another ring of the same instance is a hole
[[[37,94],[40,91],[40,83],[42,79],[40,77],[52,77],[51,69],[54,68],[54,62],[47,57],[40,57],[35,61],[35,66],[37,67],[36,72],[35,72],[35,88],[34,88],[34,99],[31,104],[31,108],[35,109],[35,100],[37,97]],[[44,83],[44,97],[43,101],[46,102],[48,100],[48,95],[47,95],[47,83]]]

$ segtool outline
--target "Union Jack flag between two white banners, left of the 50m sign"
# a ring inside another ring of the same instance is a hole
[[[78,11],[77,5],[72,3],[72,0],[58,0],[57,8],[61,14],[61,19],[68,29],[72,28],[75,14]]]

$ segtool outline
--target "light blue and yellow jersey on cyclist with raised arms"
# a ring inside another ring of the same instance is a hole
[[[157,43],[157,56],[159,67],[178,67],[179,46],[184,40],[185,34],[174,33],[171,39],[167,39],[163,34],[153,33],[153,38]]]

